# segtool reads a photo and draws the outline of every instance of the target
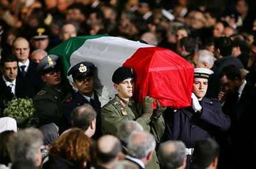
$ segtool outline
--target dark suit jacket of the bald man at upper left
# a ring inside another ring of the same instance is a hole
[[[30,90],[27,95],[30,98],[34,97],[37,92],[39,92],[42,88],[42,81],[40,79],[39,73],[37,73],[37,63],[29,60],[29,67],[27,68],[26,76],[22,76],[21,70],[18,68],[17,77],[21,78],[24,85],[29,86]]]

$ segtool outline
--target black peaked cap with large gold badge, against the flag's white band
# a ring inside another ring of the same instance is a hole
[[[72,75],[75,80],[84,80],[94,75],[95,66],[91,62],[81,62],[72,66],[67,75]]]

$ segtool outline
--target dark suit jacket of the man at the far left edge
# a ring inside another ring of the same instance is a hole
[[[24,85],[25,83],[21,78],[16,78],[15,85],[15,97],[16,98],[30,98],[29,95],[29,87]],[[11,89],[6,86],[6,83],[2,79],[2,75],[0,75],[0,116],[2,116],[2,112],[6,107],[8,101],[14,98],[14,95],[11,93]]]

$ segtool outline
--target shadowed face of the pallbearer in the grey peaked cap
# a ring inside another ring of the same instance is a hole
[[[48,86],[58,86],[61,83],[61,71],[51,71],[42,75],[42,81]]]

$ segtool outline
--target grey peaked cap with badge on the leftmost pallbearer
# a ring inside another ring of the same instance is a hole
[[[46,55],[37,65],[37,71],[44,74],[56,69],[57,60],[59,57],[57,55]]]

